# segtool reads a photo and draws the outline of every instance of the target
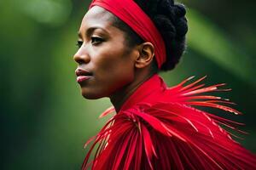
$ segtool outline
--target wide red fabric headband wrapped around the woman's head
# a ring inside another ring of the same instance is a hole
[[[166,61],[166,46],[154,23],[133,0],[93,0],[90,8],[100,6],[123,20],[155,49],[155,59],[160,66]]]

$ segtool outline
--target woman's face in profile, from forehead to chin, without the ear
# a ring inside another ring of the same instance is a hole
[[[134,78],[137,50],[125,47],[125,32],[112,25],[113,15],[93,7],[79,29],[79,50],[73,59],[81,93],[86,99],[109,97]]]

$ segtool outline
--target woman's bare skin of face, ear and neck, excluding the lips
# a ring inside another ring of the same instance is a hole
[[[118,112],[125,100],[153,75],[154,46],[143,42],[128,48],[125,32],[113,26],[113,14],[93,7],[79,29],[79,50],[73,59],[88,79],[79,82],[86,99],[110,98]]]

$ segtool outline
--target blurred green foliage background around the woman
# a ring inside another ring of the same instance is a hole
[[[227,82],[220,94],[238,105],[249,135],[241,140],[256,152],[256,1],[183,0],[188,7],[188,49],[175,71],[162,76],[172,86],[203,77]],[[75,81],[77,31],[89,1],[1,0],[1,167],[79,169],[84,142],[106,122],[108,99],[85,100]]]

